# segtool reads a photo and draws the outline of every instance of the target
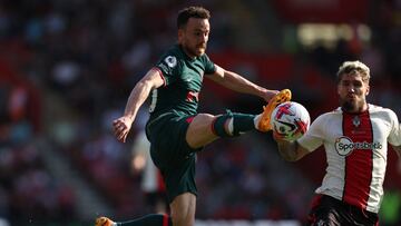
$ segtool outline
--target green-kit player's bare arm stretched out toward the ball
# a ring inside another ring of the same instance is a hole
[[[225,70],[224,68],[215,65],[216,72],[209,76],[213,81],[232,89],[237,92],[254,95],[263,98],[268,101],[274,95],[276,95],[277,90],[270,90],[263,87],[260,87],[252,81],[245,79],[244,77],[235,73],[233,71]]]

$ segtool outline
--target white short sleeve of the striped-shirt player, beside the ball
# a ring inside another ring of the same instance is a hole
[[[324,116],[317,117],[311,125],[310,129],[296,141],[303,148],[307,149],[310,153],[317,149],[323,145],[324,138]]]

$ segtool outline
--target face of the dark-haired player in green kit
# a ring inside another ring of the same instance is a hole
[[[211,26],[207,19],[189,18],[183,29],[178,29],[178,43],[189,57],[199,57],[206,51]]]

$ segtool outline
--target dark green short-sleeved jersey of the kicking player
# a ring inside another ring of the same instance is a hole
[[[166,112],[195,115],[203,76],[214,73],[215,65],[206,53],[189,58],[180,46],[173,46],[157,62],[164,86],[151,92],[150,119]]]

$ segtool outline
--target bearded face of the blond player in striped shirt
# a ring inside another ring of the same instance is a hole
[[[361,112],[368,109],[369,83],[359,72],[343,75],[338,85],[340,105],[346,112]]]

